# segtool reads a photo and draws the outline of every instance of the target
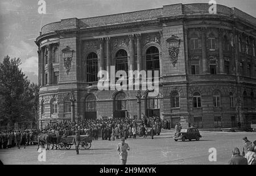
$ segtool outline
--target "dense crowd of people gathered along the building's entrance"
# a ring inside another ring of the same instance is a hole
[[[76,135],[90,135],[93,140],[115,140],[119,138],[133,138],[137,136],[146,138],[150,136],[154,139],[154,135],[160,135],[162,124],[160,118],[154,116],[146,118],[142,115],[142,123],[138,124],[136,120],[121,118],[121,119],[86,119],[84,121],[72,122],[68,120],[59,121],[57,123],[47,124],[43,129],[18,129],[9,131],[0,131],[0,149],[13,148],[22,145],[34,144],[37,141],[36,136],[40,133],[49,133],[57,137],[65,137]]]

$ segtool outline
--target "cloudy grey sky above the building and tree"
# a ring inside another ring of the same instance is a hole
[[[156,9],[176,3],[208,3],[209,0],[44,0],[46,14],[39,14],[39,0],[0,1],[0,62],[6,55],[22,60],[23,72],[38,83],[38,47],[35,44],[41,28],[66,18]],[[256,17],[256,0],[216,0],[218,4],[236,7]]]

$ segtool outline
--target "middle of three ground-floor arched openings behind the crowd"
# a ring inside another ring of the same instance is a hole
[[[120,92],[114,98],[114,118],[125,118],[126,111],[126,95]]]

